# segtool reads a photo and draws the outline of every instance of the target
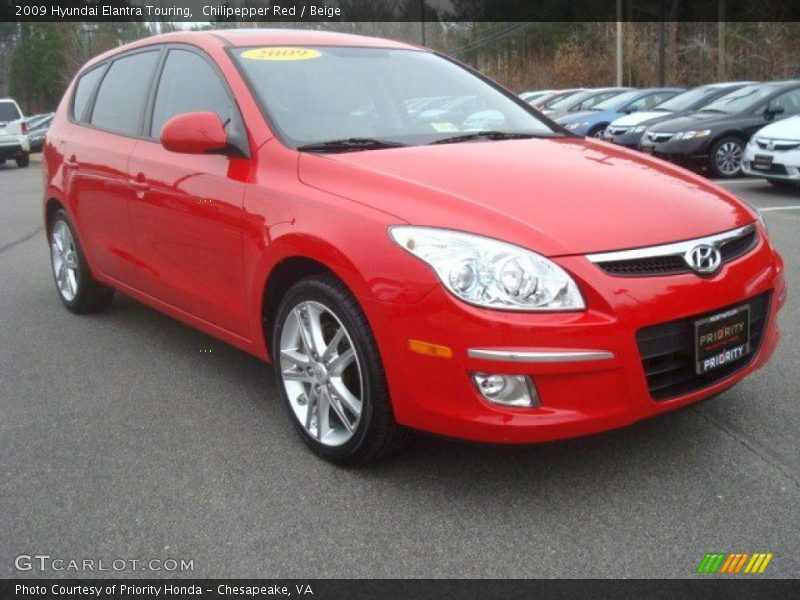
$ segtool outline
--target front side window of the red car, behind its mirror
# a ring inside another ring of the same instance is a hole
[[[216,113],[225,122],[232,116],[233,103],[213,67],[201,56],[170,50],[156,92],[151,137],[158,137],[172,117],[198,111]]]

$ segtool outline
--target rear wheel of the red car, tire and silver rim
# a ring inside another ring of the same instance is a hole
[[[56,291],[67,310],[88,314],[108,308],[114,299],[114,290],[92,277],[75,228],[63,209],[53,215],[47,240]]]

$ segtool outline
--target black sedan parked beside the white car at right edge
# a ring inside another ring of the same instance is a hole
[[[730,92],[690,115],[662,121],[640,150],[714,177],[739,175],[750,136],[767,123],[800,114],[800,80],[757,83]]]

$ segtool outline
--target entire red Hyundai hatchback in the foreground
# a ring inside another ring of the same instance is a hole
[[[778,343],[783,265],[752,209],[424,48],[135,42],[77,75],[44,170],[69,310],[116,290],[272,362],[300,436],[340,464],[411,429],[620,427],[719,394]]]

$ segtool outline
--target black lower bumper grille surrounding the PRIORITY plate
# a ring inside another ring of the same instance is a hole
[[[636,332],[636,344],[639,347],[650,396],[658,402],[663,402],[708,387],[744,368],[757,354],[763,333],[766,331],[769,302],[769,292],[746,302],[750,305],[750,354],[702,375],[695,372],[695,321],[745,303],[688,319],[645,327]]]

